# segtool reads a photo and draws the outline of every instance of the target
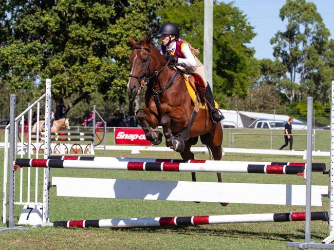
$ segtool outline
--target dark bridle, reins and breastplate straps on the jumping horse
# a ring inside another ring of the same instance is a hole
[[[150,71],[150,64],[151,64],[151,48],[146,48],[146,47],[141,47],[141,46],[134,46],[132,47],[132,50],[134,49],[144,49],[146,51],[149,51],[149,60],[147,62],[147,65],[146,65],[146,69],[143,73],[141,73],[140,75],[135,75],[135,74],[130,74],[129,76],[130,77],[133,77],[133,78],[136,78],[138,80],[138,83],[140,85],[141,88],[144,87],[145,84],[148,85],[149,83],[149,80],[151,78],[154,78],[154,76],[158,76],[162,70],[164,70],[170,63],[170,60],[167,61],[167,63],[159,70],[157,71],[154,71],[152,75],[150,76],[146,76],[147,75],[147,72]],[[157,111],[158,111],[158,116],[159,116],[159,121],[161,120],[161,107],[160,107],[160,95],[162,92],[166,91],[167,89],[169,89],[173,82],[175,81],[177,75],[179,74],[178,71],[176,71],[173,75],[173,78],[168,82],[168,84],[166,84],[166,86],[162,89],[160,89],[159,91],[156,91],[155,90],[155,86],[152,86],[152,88],[150,88],[150,90],[152,91],[152,94],[153,94],[153,97],[154,97],[154,102],[155,102],[155,106],[157,107]]]

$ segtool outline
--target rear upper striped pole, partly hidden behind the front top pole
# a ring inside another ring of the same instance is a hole
[[[180,160],[180,159],[154,159],[154,158],[125,158],[125,157],[90,157],[90,156],[49,156],[52,160],[77,160],[96,162],[146,162],[146,163],[202,163],[213,165],[281,165],[281,166],[303,166],[305,162],[245,162],[245,161],[208,161],[208,160]],[[312,171],[325,172],[325,163],[312,163]]]

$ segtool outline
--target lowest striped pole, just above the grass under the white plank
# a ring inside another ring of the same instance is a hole
[[[311,220],[328,221],[327,211],[312,212]],[[304,212],[249,214],[249,215],[211,215],[211,216],[182,216],[106,220],[72,220],[47,223],[49,226],[61,227],[148,227],[148,226],[191,226],[205,224],[254,223],[254,222],[285,222],[305,221]]]

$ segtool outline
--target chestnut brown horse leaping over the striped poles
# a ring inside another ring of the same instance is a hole
[[[219,161],[222,156],[223,138],[221,124],[211,120],[209,110],[199,109],[191,125],[195,104],[181,73],[164,59],[152,43],[151,36],[138,42],[130,36],[129,42],[133,47],[129,56],[131,73],[127,89],[129,93],[138,95],[145,84],[147,85],[145,108],[136,111],[146,139],[154,145],[160,144],[162,134],[153,129],[161,125],[166,146],[179,152],[183,160],[194,160],[191,146],[195,145],[200,137],[201,142],[208,147],[209,153],[211,151],[213,159]],[[217,177],[218,182],[221,182],[220,173],[217,173]],[[194,172],[192,180],[196,181]]]

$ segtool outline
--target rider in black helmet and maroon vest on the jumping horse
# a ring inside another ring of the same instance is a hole
[[[205,67],[196,57],[199,50],[179,38],[180,29],[174,23],[164,23],[159,29],[159,34],[162,36],[160,53],[166,60],[170,60],[171,64],[182,64],[182,66],[185,65],[187,68],[193,68],[193,72],[201,76],[205,87],[197,87],[201,95],[206,97],[212,106],[210,111],[211,118],[215,123],[223,120],[224,116],[215,108],[212,90],[205,77]]]

